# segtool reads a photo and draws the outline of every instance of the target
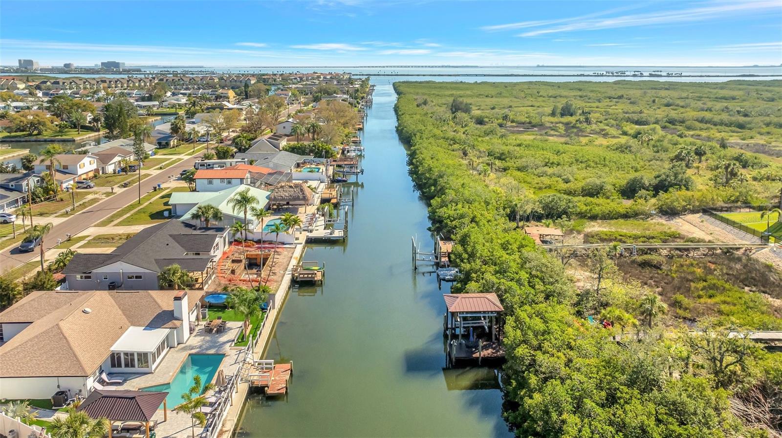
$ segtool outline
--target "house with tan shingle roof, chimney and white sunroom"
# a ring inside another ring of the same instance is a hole
[[[188,341],[201,290],[35,291],[0,313],[0,399],[87,394],[102,372],[150,373]]]

